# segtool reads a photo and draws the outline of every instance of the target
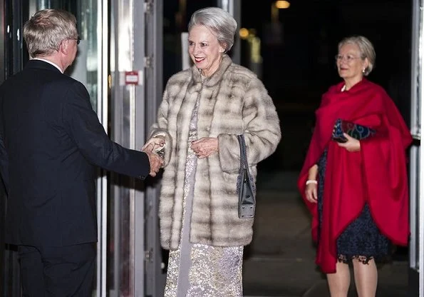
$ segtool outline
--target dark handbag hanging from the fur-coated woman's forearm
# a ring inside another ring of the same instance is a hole
[[[237,193],[239,194],[239,218],[253,218],[256,206],[254,180],[247,163],[246,143],[243,135],[237,135],[240,145],[240,168],[237,177]]]

